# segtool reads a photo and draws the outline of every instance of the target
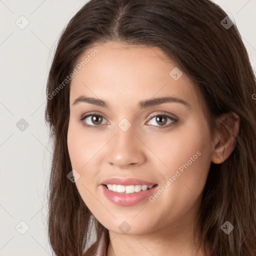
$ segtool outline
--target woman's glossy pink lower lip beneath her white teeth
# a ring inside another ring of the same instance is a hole
[[[150,189],[126,194],[126,193],[118,193],[118,192],[109,190],[106,188],[105,185],[101,185],[101,186],[102,186],[103,193],[104,193],[105,197],[109,201],[111,201],[115,204],[121,205],[121,206],[133,205],[133,204],[136,204],[136,203],[144,200],[145,198],[149,197],[154,192],[155,188],[157,187],[157,185],[155,185]]]

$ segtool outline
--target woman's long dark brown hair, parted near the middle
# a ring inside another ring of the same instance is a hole
[[[107,40],[158,46],[173,59],[199,91],[212,137],[217,129],[228,132],[216,121],[221,114],[233,111],[240,117],[233,152],[220,164],[211,162],[195,228],[205,255],[206,245],[211,256],[256,255],[256,83],[235,23],[229,28],[221,23],[226,16],[210,0],[90,0],[71,18],[58,40],[46,88],[45,120],[54,142],[48,237],[56,255],[83,254],[91,218],[96,241],[103,231],[109,241],[108,230],[67,178],[72,168],[70,80],[65,80],[88,48]],[[225,221],[234,226],[229,234],[220,228]]]

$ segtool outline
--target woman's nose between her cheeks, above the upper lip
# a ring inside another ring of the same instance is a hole
[[[108,163],[118,168],[140,165],[146,158],[141,140],[132,126],[126,131],[117,127],[114,137],[107,143]]]

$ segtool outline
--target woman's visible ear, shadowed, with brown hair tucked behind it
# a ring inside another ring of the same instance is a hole
[[[214,163],[221,163],[226,160],[232,153],[235,146],[235,137],[239,131],[240,118],[234,112],[228,112],[218,118],[220,128],[217,131],[214,139],[213,151],[211,161]],[[226,126],[228,132],[223,126]]]

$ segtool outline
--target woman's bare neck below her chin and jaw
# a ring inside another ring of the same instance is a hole
[[[146,234],[119,234],[109,230],[107,256],[203,256],[193,235],[194,223],[176,221]]]

